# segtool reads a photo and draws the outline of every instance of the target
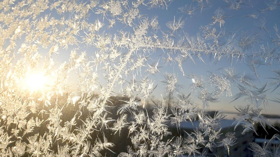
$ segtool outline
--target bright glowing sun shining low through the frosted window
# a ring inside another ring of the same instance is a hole
[[[23,88],[29,90],[30,93],[42,91],[46,87],[47,78],[43,72],[29,72],[23,80]]]

